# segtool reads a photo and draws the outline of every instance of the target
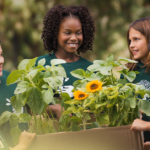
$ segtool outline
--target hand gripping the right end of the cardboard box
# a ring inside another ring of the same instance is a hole
[[[147,131],[150,128],[150,123],[141,119],[135,119],[132,123],[131,130]]]

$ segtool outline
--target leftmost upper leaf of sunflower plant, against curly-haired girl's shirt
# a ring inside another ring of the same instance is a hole
[[[76,78],[83,79],[86,75],[83,69],[76,69],[70,72],[70,74]]]

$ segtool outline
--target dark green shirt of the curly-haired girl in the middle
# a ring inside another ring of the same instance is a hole
[[[47,54],[47,55],[38,57],[38,59],[36,61],[36,65],[37,65],[37,62],[40,59],[43,59],[43,58],[46,59],[46,63],[45,63],[44,66],[46,66],[46,65],[51,66],[50,61],[52,59],[57,59],[57,57],[55,56],[54,53]],[[92,64],[91,62],[89,62],[88,60],[86,60],[82,57],[80,57],[77,61],[67,62],[65,64],[61,64],[64,67],[64,69],[66,71],[66,74],[67,74],[67,79],[64,79],[64,83],[63,83],[63,86],[62,86],[62,91],[67,92],[70,95],[70,97],[73,97],[73,93],[72,93],[73,86],[72,85],[73,85],[73,82],[78,80],[78,79],[73,77],[70,74],[70,72],[75,70],[75,69],[83,69],[83,70],[86,71],[87,67],[91,64]]]

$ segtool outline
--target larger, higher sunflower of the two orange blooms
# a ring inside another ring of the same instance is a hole
[[[96,92],[102,90],[102,82],[98,80],[93,80],[86,85],[86,89],[88,92]]]

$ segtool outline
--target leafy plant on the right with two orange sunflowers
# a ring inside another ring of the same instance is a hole
[[[79,80],[73,84],[74,99],[65,102],[70,107],[63,114],[73,113],[76,116],[75,122],[81,119],[84,130],[90,113],[95,115],[100,126],[131,124],[139,117],[139,110],[150,116],[150,102],[142,99],[146,93],[150,95],[150,91],[141,85],[130,83],[138,72],[129,71],[122,61],[136,63],[125,58],[114,61],[113,55],[110,55],[106,62],[94,60],[86,72],[82,69],[72,71],[71,74]],[[113,72],[115,67],[120,68],[119,72],[124,79],[116,78]]]

